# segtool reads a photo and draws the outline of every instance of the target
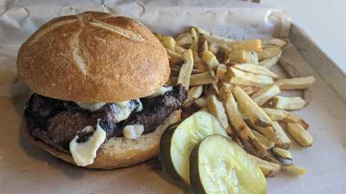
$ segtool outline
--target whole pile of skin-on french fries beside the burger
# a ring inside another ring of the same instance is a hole
[[[311,146],[313,137],[307,131],[309,124],[289,111],[309,104],[308,88],[315,79],[300,77],[291,64],[280,61],[286,41],[236,41],[197,27],[175,39],[156,37],[170,57],[167,85],[182,84],[188,90],[185,117],[196,111],[215,115],[267,177],[280,171],[306,172],[293,165],[289,147],[291,139]],[[291,78],[281,79],[270,70],[278,62]],[[302,97],[280,96],[283,90],[301,90]]]

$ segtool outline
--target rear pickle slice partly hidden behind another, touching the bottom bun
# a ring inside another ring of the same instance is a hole
[[[190,153],[208,135],[227,137],[224,127],[210,113],[199,111],[180,124],[165,130],[160,142],[160,157],[165,171],[178,183],[190,184]]]

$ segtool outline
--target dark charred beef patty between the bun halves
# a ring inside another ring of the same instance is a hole
[[[82,129],[95,126],[98,119],[107,139],[122,137],[122,128],[131,124],[143,124],[144,134],[151,133],[168,115],[181,108],[187,96],[183,86],[173,86],[173,90],[164,95],[140,99],[143,104],[140,112],[136,111],[140,106],[138,101],[131,100],[131,114],[119,122],[116,115],[120,109],[115,103],[107,103],[100,110],[91,112],[80,108],[73,101],[33,94],[28,100],[24,116],[30,135],[59,151],[69,153],[69,144],[75,135],[79,137],[78,142],[85,142],[93,132],[83,132]]]

